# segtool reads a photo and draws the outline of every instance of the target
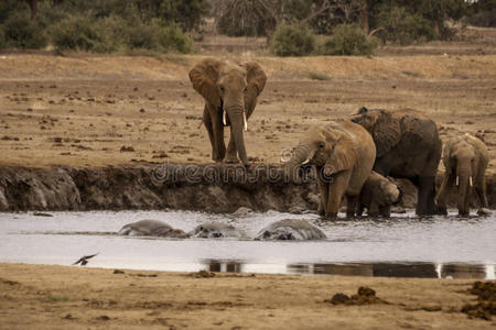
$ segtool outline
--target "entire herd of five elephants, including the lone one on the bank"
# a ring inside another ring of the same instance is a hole
[[[259,64],[234,65],[207,58],[190,72],[193,88],[205,99],[203,123],[215,162],[238,163],[249,167],[244,141],[247,120],[254,113],[257,97],[267,76]],[[224,143],[224,128],[230,140]],[[445,175],[435,196],[435,176],[443,154]],[[468,215],[471,191],[475,188],[479,208],[487,212],[484,172],[488,152],[477,138],[465,134],[444,144],[435,122],[413,109],[384,110],[363,107],[352,118],[312,128],[292,148],[284,162],[294,179],[301,168],[317,170],[320,213],[337,216],[346,197],[346,216],[389,216],[390,206],[401,200],[401,190],[387,177],[408,178],[418,188],[416,212],[419,216],[446,213],[451,186],[457,186],[457,208]]]

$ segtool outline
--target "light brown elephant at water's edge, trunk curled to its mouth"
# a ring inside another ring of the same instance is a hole
[[[302,164],[315,165],[321,215],[336,218],[341,199],[346,195],[346,216],[354,217],[362,186],[370,175],[375,158],[376,146],[370,134],[349,120],[336,120],[311,129],[292,150],[285,165],[293,177],[298,177]]]

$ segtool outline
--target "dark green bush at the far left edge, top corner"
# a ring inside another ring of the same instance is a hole
[[[12,14],[2,28],[6,46],[43,48],[46,45],[43,26],[31,21],[26,13]]]

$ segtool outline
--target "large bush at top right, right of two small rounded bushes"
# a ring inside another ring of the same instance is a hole
[[[377,25],[382,26],[378,35],[382,42],[400,45],[425,42],[434,38],[431,23],[421,14],[410,13],[402,7],[382,6],[377,14]]]

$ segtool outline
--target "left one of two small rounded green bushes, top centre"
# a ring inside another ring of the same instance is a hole
[[[306,25],[282,24],[276,29],[270,43],[278,56],[304,56],[315,48],[315,35]]]

